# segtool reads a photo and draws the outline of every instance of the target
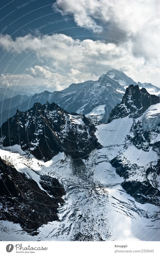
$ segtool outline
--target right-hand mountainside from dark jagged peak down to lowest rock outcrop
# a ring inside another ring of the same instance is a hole
[[[123,152],[113,158],[111,164],[116,168],[117,174],[125,179],[122,187],[143,204],[159,205],[158,102],[158,96],[150,95],[144,88],[140,90],[138,86],[130,85],[122,103],[113,109],[108,121],[118,118],[121,120],[122,117],[132,119],[133,125],[126,136]]]

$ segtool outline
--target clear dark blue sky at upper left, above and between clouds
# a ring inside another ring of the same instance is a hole
[[[26,4],[24,7],[21,5]],[[65,35],[72,36],[74,38],[84,38],[87,39],[91,37],[93,33],[91,31],[85,30],[81,27],[78,27],[74,20],[72,19],[72,15],[66,15],[65,17],[71,18],[69,21],[64,22],[62,15],[60,12],[53,11],[52,5],[55,1],[48,0],[45,2],[42,0],[32,0],[31,1],[22,1],[22,0],[14,0],[14,1],[1,1],[0,2],[0,17],[3,17],[1,20],[1,27],[7,29],[3,34],[9,34],[13,39],[19,36],[25,36],[29,33],[35,34],[35,30],[42,26],[40,32],[42,35],[51,35],[52,33],[64,33]],[[6,5],[6,6],[5,6]],[[9,14],[9,15],[8,15]],[[45,25],[47,24],[47,25]],[[93,40],[95,38],[93,37]],[[6,55],[4,57],[4,51],[1,48],[0,58],[2,58],[0,72],[3,72],[4,67],[8,64],[10,60],[10,56]],[[27,55],[25,55],[26,57]],[[20,62],[23,60],[24,55],[18,56],[16,62]],[[26,66],[32,62],[27,60]],[[17,72],[23,72],[25,65],[21,65]],[[8,72],[14,72],[15,66],[10,65],[8,68]]]

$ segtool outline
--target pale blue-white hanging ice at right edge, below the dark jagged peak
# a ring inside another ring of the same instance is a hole
[[[160,124],[160,103],[151,105],[142,116],[143,130],[154,129]]]

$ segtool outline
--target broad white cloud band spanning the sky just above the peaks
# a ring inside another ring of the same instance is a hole
[[[64,34],[39,37],[29,34],[15,40],[9,35],[2,35],[0,43],[12,56],[17,52],[19,55],[28,52],[35,60],[39,60],[39,65],[26,69],[24,74],[5,73],[1,77],[3,84],[18,81],[18,84],[45,84],[54,90],[62,90],[60,84],[96,80],[110,68],[115,68],[124,71],[135,81],[160,86],[160,68],[155,65],[157,62],[154,58],[145,59],[140,55],[134,49],[132,40],[116,45],[100,40],[81,41]]]

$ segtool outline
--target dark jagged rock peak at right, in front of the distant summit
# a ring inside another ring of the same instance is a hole
[[[151,95],[145,88],[140,89],[138,85],[131,84],[122,98],[109,115],[108,122],[113,119],[126,116],[132,118],[140,117],[149,106],[160,102],[160,97]]]

